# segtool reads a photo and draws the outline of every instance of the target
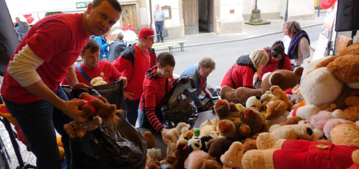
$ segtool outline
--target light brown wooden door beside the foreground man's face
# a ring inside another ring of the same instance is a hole
[[[138,33],[137,15],[135,4],[121,5],[123,26],[130,24],[134,28],[134,32]]]

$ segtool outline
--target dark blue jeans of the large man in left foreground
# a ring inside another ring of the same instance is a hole
[[[54,92],[59,98],[68,100],[64,90],[58,87]],[[31,152],[36,156],[37,168],[61,168],[55,129],[62,136],[68,168],[71,162],[69,135],[64,124],[72,119],[45,100],[17,104],[4,98],[6,108],[16,118],[23,131]]]

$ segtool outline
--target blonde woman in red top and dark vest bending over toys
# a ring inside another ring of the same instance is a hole
[[[253,88],[253,76],[258,71],[261,73],[262,65],[267,64],[268,54],[263,49],[257,49],[250,55],[238,57],[236,63],[231,66],[222,80],[221,87],[229,86],[232,89],[239,87]]]

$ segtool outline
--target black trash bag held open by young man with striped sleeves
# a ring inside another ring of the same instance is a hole
[[[191,125],[191,128],[194,126],[198,117],[193,101],[194,92],[196,88],[190,77],[183,77],[174,83],[171,91],[162,101],[162,118],[158,118],[165,128],[174,128],[179,122],[186,122]]]

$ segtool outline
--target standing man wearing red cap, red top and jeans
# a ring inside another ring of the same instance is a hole
[[[111,64],[118,72],[127,77],[128,85],[125,88],[126,119],[133,126],[137,121],[139,98],[143,93],[142,85],[146,71],[156,63],[154,44],[154,31],[152,28],[142,28],[138,31],[138,43],[130,46],[122,55]]]

